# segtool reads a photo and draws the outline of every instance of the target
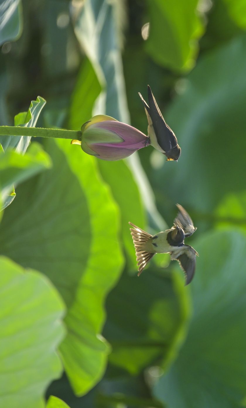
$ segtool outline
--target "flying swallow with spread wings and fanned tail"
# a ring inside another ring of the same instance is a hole
[[[174,225],[157,235],[150,235],[129,222],[133,226],[130,231],[137,257],[137,276],[156,253],[170,253],[171,260],[178,261],[184,271],[186,285],[191,282],[198,253],[192,246],[184,244],[184,238],[190,237],[197,228],[194,227],[191,217],[180,204],[177,204],[177,208],[179,212],[173,222]]]

